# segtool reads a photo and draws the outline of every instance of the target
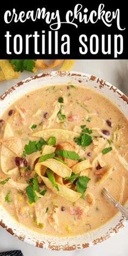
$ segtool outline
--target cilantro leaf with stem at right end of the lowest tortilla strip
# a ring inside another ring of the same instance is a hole
[[[81,199],[85,199],[84,197],[84,193],[87,189],[87,183],[88,181],[90,181],[91,179],[88,178],[87,176],[80,176],[78,178],[78,181],[76,181],[76,188],[77,188],[77,192],[78,193],[81,193]]]

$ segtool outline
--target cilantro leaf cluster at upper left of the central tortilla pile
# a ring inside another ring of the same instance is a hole
[[[40,151],[42,148],[42,145],[46,145],[47,142],[43,138],[40,138],[39,142],[36,142],[35,140],[31,142],[29,140],[29,144],[24,146],[24,154],[30,155],[33,152]]]

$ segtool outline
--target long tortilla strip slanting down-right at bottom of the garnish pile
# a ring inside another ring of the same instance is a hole
[[[43,177],[40,172],[37,173],[38,175],[41,176],[43,182],[46,184],[46,186],[51,189],[55,194],[62,196],[63,198],[71,201],[71,202],[75,202],[76,200],[78,200],[81,196],[81,193],[75,192],[72,189],[69,189],[59,183],[56,183],[59,187],[59,191],[57,191],[57,189],[55,187],[53,187],[53,183],[51,181],[49,181],[48,178]]]

